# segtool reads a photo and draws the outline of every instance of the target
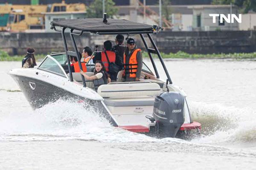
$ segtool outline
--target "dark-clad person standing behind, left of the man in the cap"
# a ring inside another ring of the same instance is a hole
[[[121,34],[116,35],[116,38],[115,38],[116,45],[113,46],[113,48],[112,48],[112,51],[114,51],[116,53],[116,56],[119,57],[122,62],[123,62],[123,56],[124,56],[124,52],[125,52],[125,48],[126,48],[126,46],[123,45],[124,39],[125,38],[123,35],[121,35]]]

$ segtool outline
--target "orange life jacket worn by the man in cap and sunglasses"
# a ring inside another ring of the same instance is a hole
[[[136,77],[136,72],[137,72],[137,68],[138,68],[138,62],[137,62],[137,53],[138,51],[141,51],[141,49],[136,49],[133,51],[133,53],[131,54],[131,57],[129,59],[129,63],[126,64],[125,63],[125,54],[124,54],[124,68],[125,68],[125,73],[130,74],[129,77],[130,78],[134,78]]]

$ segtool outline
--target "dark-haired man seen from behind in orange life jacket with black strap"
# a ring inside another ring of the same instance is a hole
[[[96,53],[95,57],[93,57],[93,63],[95,63],[97,60],[102,61],[103,64],[105,65],[106,71],[108,72],[108,74],[110,74],[111,81],[116,80],[117,72],[116,73],[109,72],[108,60],[109,62],[114,62],[116,65],[118,65],[119,70],[122,70],[122,66],[123,66],[122,60],[119,57],[116,57],[115,52],[111,51],[111,48],[112,48],[111,41],[109,40],[105,41],[103,43],[103,46],[104,46],[104,51],[102,51],[101,53]]]

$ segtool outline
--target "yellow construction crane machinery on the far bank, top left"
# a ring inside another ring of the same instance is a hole
[[[83,3],[53,3],[49,5],[10,5],[0,6],[1,31],[25,31],[44,28],[44,12],[85,11]]]

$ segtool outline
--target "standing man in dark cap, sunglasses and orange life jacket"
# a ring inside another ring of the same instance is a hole
[[[133,38],[127,40],[127,47],[124,53],[124,74],[125,82],[140,81],[142,70],[142,55],[141,50],[137,48]]]

